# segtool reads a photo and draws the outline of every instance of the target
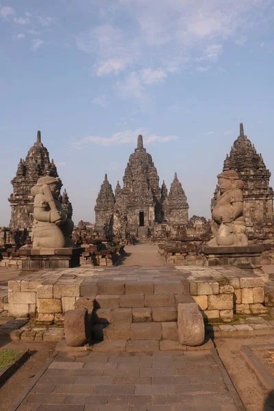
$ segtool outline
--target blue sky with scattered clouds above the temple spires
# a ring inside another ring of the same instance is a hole
[[[190,216],[210,216],[240,121],[274,173],[273,23],[273,0],[1,0],[0,225],[37,129],[75,223],[94,219],[104,173],[122,182],[140,132]]]

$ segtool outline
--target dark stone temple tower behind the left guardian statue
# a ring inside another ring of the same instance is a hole
[[[31,195],[31,189],[38,179],[45,175],[58,177],[58,172],[54,161],[49,160],[49,151],[42,145],[41,133],[38,131],[36,142],[29,149],[25,160],[20,160],[16,176],[12,179],[13,192],[9,198],[12,208],[10,219],[12,231],[29,232],[32,229],[34,197]],[[62,195],[62,205],[71,218],[73,210],[66,190]]]

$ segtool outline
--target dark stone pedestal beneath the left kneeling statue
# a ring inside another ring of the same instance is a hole
[[[22,271],[71,269],[80,265],[80,256],[84,250],[77,248],[62,249],[19,249],[22,259]]]

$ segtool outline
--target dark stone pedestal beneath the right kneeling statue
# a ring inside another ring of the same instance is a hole
[[[206,266],[232,265],[240,269],[260,269],[263,245],[247,247],[209,247],[201,246]]]

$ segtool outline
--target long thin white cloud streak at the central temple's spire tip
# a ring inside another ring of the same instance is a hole
[[[123,144],[133,144],[137,141],[138,134],[142,134],[144,138],[144,145],[149,145],[152,142],[169,142],[172,140],[177,140],[177,136],[158,136],[157,134],[151,133],[148,128],[140,128],[137,130],[125,130],[123,132],[118,132],[113,134],[111,137],[101,137],[101,136],[88,136],[82,138],[79,141],[73,143],[74,149],[83,149],[84,147],[92,144],[101,145],[109,147],[112,145],[123,145]]]

